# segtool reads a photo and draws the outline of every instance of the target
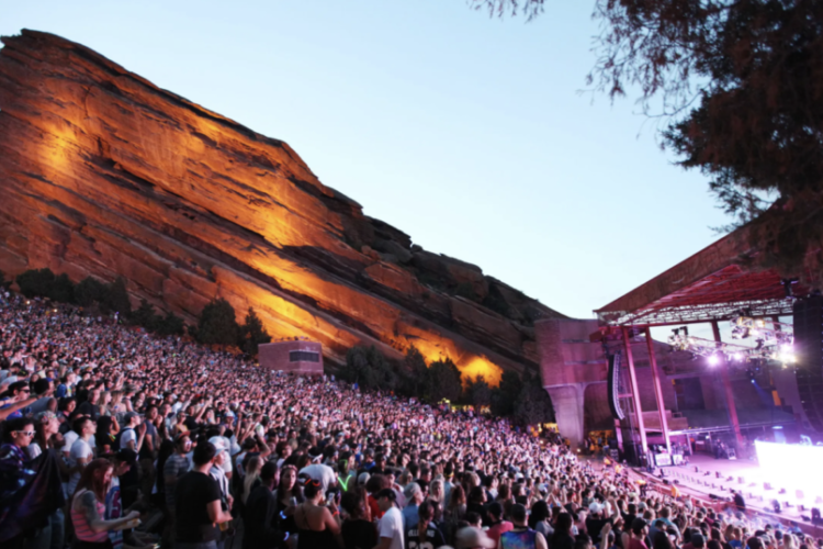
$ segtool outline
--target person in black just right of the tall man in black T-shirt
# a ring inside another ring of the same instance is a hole
[[[277,463],[267,461],[260,470],[260,484],[249,493],[246,500],[244,549],[271,549],[283,541],[283,534],[274,528],[278,502],[271,491],[274,489],[277,474]]]

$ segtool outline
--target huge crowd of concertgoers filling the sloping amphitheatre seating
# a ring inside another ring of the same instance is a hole
[[[3,548],[821,545],[647,495],[556,434],[263,370],[76,307],[0,296],[0,349]]]

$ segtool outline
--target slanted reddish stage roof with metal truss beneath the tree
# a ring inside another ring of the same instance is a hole
[[[749,316],[790,315],[780,276],[754,269],[747,227],[741,227],[622,298],[595,311],[604,324],[675,325]],[[809,290],[793,288],[796,295]]]

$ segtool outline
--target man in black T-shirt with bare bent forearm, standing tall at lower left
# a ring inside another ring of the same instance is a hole
[[[174,547],[177,549],[217,549],[219,529],[216,523],[232,520],[229,511],[221,507],[221,489],[208,474],[217,450],[211,442],[194,448],[194,469],[174,486]]]

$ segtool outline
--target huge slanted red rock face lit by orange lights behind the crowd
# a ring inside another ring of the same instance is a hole
[[[188,322],[223,296],[253,306],[275,340],[320,341],[331,363],[353,345],[393,357],[415,345],[494,382],[537,368],[532,321],[562,315],[363,215],[285,143],[64,38],[3,43],[7,273],[123,276],[134,299]]]

